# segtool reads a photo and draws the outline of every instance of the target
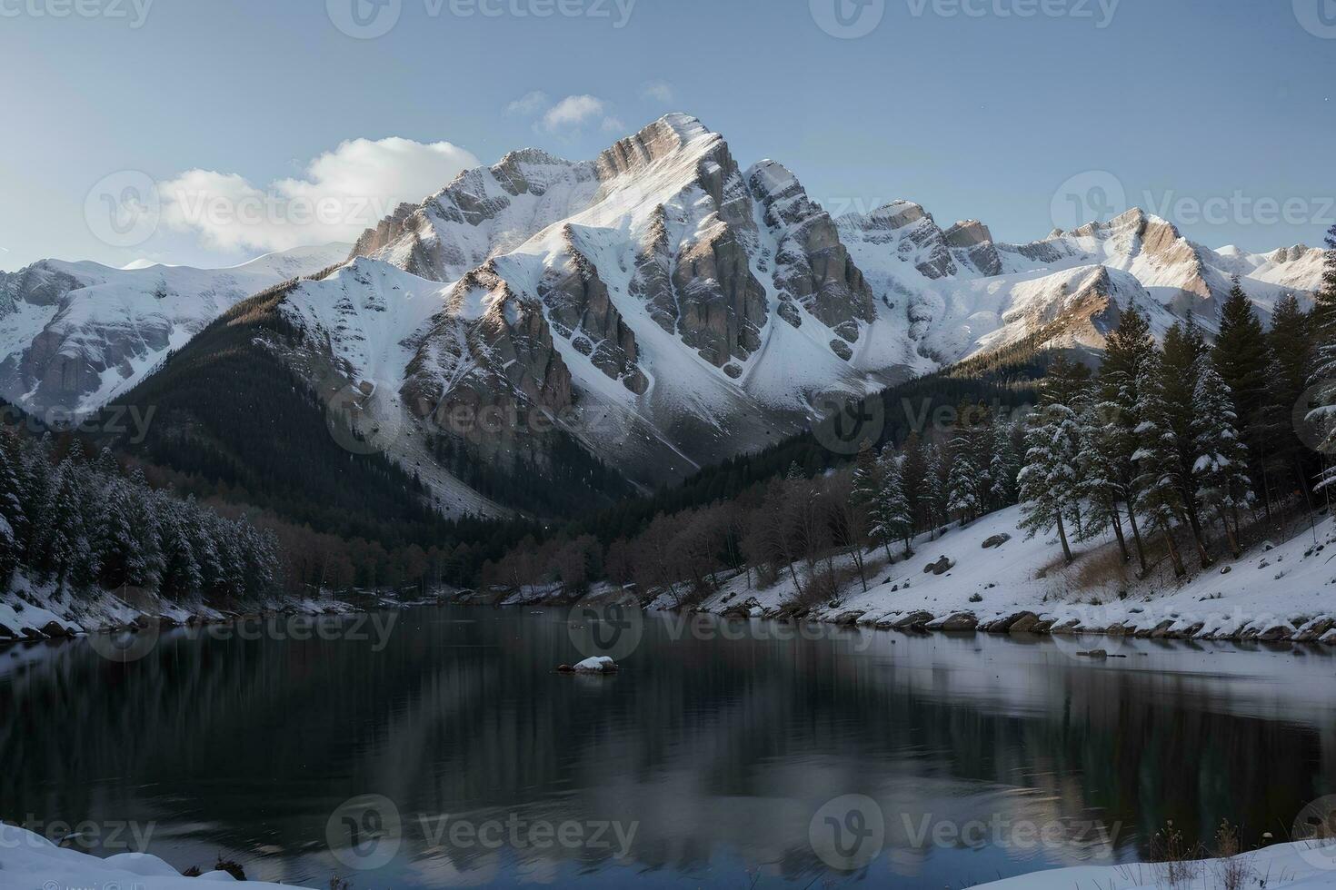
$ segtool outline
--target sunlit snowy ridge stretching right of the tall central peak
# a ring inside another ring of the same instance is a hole
[[[1157,335],[1189,312],[1214,331],[1233,276],[1265,320],[1284,294],[1309,299],[1324,262],[1323,251],[1304,246],[1212,251],[1140,209],[1029,244],[994,242],[977,220],[943,231],[910,201],[838,223],[886,327],[906,331],[937,364],[1035,334],[1054,346],[1100,348],[1129,304],[1149,315]]]

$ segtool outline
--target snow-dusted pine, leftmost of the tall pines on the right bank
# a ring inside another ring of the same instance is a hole
[[[1075,458],[1079,444],[1077,415],[1063,399],[1073,391],[1066,375],[1046,379],[1039,411],[1031,420],[1025,454],[1021,486],[1021,528],[1034,538],[1037,534],[1058,531],[1062,556],[1070,564],[1074,559],[1067,540],[1066,520],[1077,500]]]

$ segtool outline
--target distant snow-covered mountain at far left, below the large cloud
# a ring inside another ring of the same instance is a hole
[[[96,410],[239,300],[346,255],[327,244],[220,270],[40,260],[0,272],[0,396],[36,412]]]

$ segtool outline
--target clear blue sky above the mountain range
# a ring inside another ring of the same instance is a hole
[[[307,193],[329,184],[314,159],[335,152],[333,180],[357,163],[346,140],[450,143],[403,155],[418,200],[452,164],[592,157],[668,111],[741,164],[783,161],[831,209],[907,197],[1006,240],[1121,204],[1213,247],[1316,244],[1336,221],[1336,0],[382,0],[397,19],[374,39],[335,25],[354,0],[77,0],[56,17],[75,1],[0,0],[0,268],[224,263],[274,240],[164,224],[110,244],[86,197],[118,171]],[[838,21],[860,36],[827,33]]]

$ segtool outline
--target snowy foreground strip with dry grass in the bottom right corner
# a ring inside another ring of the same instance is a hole
[[[1336,887],[1336,846],[1288,843],[1246,853],[1237,859],[1244,874],[1240,887]],[[1192,865],[1193,879],[1170,885],[1168,866],[1125,865],[1113,867],[1061,869],[986,883],[993,890],[1217,890],[1225,882],[1226,861]]]

